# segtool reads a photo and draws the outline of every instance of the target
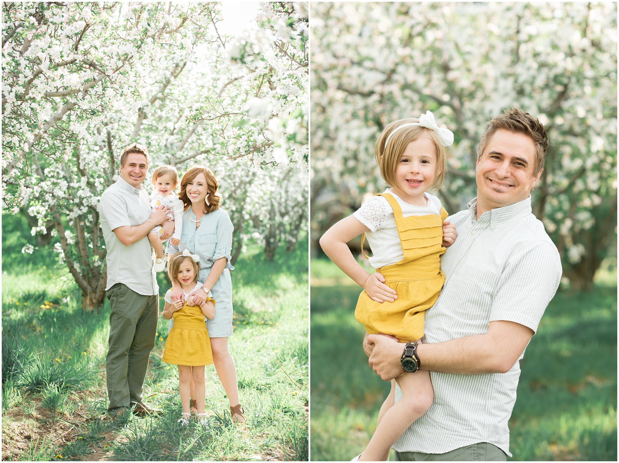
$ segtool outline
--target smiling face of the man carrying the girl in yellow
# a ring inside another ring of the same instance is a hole
[[[477,161],[477,207],[485,212],[529,197],[542,175],[535,171],[535,143],[525,134],[499,129]],[[481,215],[478,212],[478,216]]]

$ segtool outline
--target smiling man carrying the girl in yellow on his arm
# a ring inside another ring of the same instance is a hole
[[[477,197],[447,219],[458,237],[441,257],[445,283],[417,347],[435,399],[393,445],[397,460],[511,456],[519,360],[561,279],[556,246],[531,212],[547,147],[543,125],[528,113],[512,109],[488,123],[477,150]],[[363,347],[385,381],[403,373],[397,340],[367,335]]]

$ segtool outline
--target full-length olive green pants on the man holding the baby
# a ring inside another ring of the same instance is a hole
[[[143,296],[123,283],[107,291],[110,348],[105,360],[108,412],[142,402],[142,386],[155,346],[159,296]]]

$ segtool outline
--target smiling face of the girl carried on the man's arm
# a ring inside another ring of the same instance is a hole
[[[410,142],[397,164],[397,184],[391,190],[413,206],[426,206],[423,193],[434,181],[436,163],[436,146],[430,138],[422,136]]]

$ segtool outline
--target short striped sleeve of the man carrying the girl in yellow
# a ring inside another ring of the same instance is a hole
[[[513,321],[536,332],[561,272],[561,259],[548,241],[534,241],[514,253],[501,272],[489,321]]]

